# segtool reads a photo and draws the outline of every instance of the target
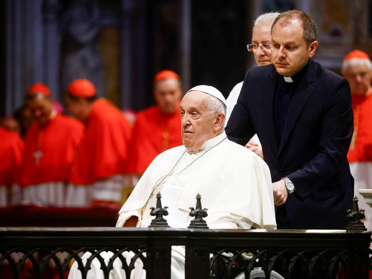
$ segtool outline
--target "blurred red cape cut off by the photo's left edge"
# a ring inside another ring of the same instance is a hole
[[[14,132],[0,127],[0,207],[19,202],[23,141]]]

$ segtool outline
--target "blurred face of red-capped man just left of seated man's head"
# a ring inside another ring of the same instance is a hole
[[[154,99],[162,112],[175,112],[179,106],[181,96],[182,90],[177,80],[161,80],[154,86]]]

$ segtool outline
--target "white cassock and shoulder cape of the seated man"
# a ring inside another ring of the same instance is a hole
[[[148,227],[151,219],[154,218],[150,215],[150,207],[155,207],[156,193],[160,192],[162,205],[169,207],[169,215],[164,218],[173,228],[189,226],[193,219],[189,216],[189,207],[195,207],[198,193],[202,197],[203,208],[208,208],[208,217],[204,220],[209,228],[275,228],[275,209],[269,167],[252,151],[225,138],[226,134],[223,132],[207,140],[199,150],[185,153],[186,148],[181,145],[158,155],[119,211],[120,216],[116,227],[122,227],[131,216],[138,217],[137,227]],[[219,145],[209,150],[219,142],[221,142]],[[209,151],[202,155],[206,150]],[[166,177],[183,153],[185,154],[177,166]],[[198,157],[200,158],[194,161]],[[187,167],[191,162],[193,164]],[[154,190],[164,177],[166,177],[165,183]],[[152,192],[154,192],[153,198],[148,201]],[[84,262],[89,256],[88,253],[83,256]],[[103,278],[98,260],[95,264],[97,264],[97,267],[93,267],[95,272],[90,271],[92,275],[88,273],[88,279]],[[141,266],[142,264],[132,272],[136,279],[145,278]],[[172,247],[171,278],[185,278],[184,266],[185,248]],[[125,278],[119,261],[110,275],[112,279]],[[71,267],[69,278],[81,278],[76,263]]]

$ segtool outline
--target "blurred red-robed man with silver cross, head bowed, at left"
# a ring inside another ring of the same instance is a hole
[[[26,104],[35,123],[28,129],[23,161],[23,199],[35,205],[63,206],[71,164],[84,126],[54,109],[42,83],[31,86]]]

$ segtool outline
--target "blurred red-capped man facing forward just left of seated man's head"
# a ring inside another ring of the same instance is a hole
[[[157,155],[182,145],[182,88],[179,76],[170,70],[160,71],[154,78],[156,105],[137,113],[133,127],[130,172],[142,175]]]

